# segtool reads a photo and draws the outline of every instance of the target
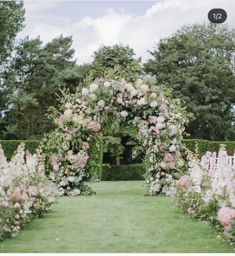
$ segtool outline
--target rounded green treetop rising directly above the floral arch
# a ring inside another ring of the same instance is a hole
[[[135,59],[134,50],[128,45],[116,44],[113,46],[102,45],[93,53],[93,62],[91,71],[95,77],[102,77],[108,70],[114,69],[115,66],[120,67],[120,76],[128,81],[134,81],[140,74],[141,58]]]

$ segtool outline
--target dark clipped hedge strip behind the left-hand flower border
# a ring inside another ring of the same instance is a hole
[[[2,149],[7,160],[10,160],[11,157],[14,155],[14,152],[17,150],[18,145],[23,142],[25,144],[25,150],[29,151],[30,153],[35,153],[36,149],[39,147],[41,140],[25,140],[25,141],[0,141],[2,145]]]

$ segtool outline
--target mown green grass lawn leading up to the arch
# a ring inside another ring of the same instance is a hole
[[[44,218],[0,242],[2,253],[233,253],[169,197],[143,196],[141,181],[92,183],[97,194],[61,197]]]

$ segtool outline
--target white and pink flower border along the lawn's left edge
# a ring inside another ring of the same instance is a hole
[[[7,162],[0,146],[0,239],[14,237],[36,217],[42,217],[55,203],[57,188],[44,174],[44,155],[25,153],[21,144]]]

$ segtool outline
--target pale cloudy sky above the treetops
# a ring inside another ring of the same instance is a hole
[[[102,44],[119,42],[145,62],[151,58],[147,50],[153,50],[160,38],[185,23],[207,22],[212,8],[225,9],[226,23],[235,27],[235,0],[29,0],[24,7],[26,26],[17,37],[40,35],[47,43],[60,34],[72,35],[77,64],[91,62]]]

